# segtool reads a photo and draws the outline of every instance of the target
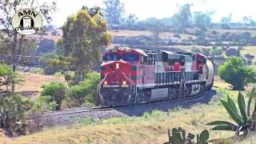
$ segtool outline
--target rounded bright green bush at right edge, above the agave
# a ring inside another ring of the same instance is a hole
[[[243,90],[250,82],[256,82],[256,72],[244,66],[242,58],[232,56],[222,66],[218,67],[218,75],[232,85],[233,90]]]

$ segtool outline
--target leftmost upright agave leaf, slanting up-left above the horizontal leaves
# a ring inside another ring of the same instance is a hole
[[[234,110],[234,107],[230,106],[229,103],[223,101],[220,99],[222,102],[222,105],[225,107],[226,111],[230,114],[230,117],[233,118],[234,122],[237,122],[239,126],[242,126],[244,124],[243,118],[236,110]]]

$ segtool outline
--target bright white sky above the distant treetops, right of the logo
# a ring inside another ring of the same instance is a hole
[[[46,0],[52,2],[53,0]],[[155,17],[171,17],[178,8],[176,3],[183,5],[193,3],[193,11],[216,10],[213,22],[219,22],[222,16],[233,14],[232,22],[242,21],[244,16],[252,16],[256,19],[254,2],[251,0],[208,0],[208,5],[202,5],[202,0],[121,0],[125,3],[126,14],[133,13],[140,20]],[[66,17],[75,14],[82,6],[104,6],[102,0],[54,0],[57,3],[58,11],[53,14],[52,25],[62,26]]]

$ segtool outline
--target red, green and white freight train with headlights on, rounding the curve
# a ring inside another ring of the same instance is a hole
[[[214,84],[212,58],[199,53],[128,47],[103,55],[98,93],[103,106],[193,97]]]

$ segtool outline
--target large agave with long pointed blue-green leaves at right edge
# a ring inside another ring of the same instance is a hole
[[[247,104],[247,110],[246,110],[245,98],[242,95],[242,93],[239,91],[238,107],[239,107],[240,113],[238,112],[238,109],[235,106],[234,101],[229,96],[227,96],[227,102],[220,99],[220,101],[222,102],[222,106],[225,107],[228,114],[230,114],[230,117],[234,120],[234,122],[236,122],[236,125],[226,121],[214,121],[206,125],[217,125],[211,130],[232,130],[232,131],[235,131],[236,135],[238,136],[242,136],[242,135],[245,136],[246,132],[248,131],[248,127],[250,126],[250,120],[253,116],[253,114],[250,114],[250,104],[251,104],[252,98],[254,97],[254,90],[255,90],[255,86],[253,90],[251,90],[250,92],[250,98]],[[256,105],[255,105],[255,108],[256,108]],[[255,108],[254,108],[254,111],[255,111]]]

